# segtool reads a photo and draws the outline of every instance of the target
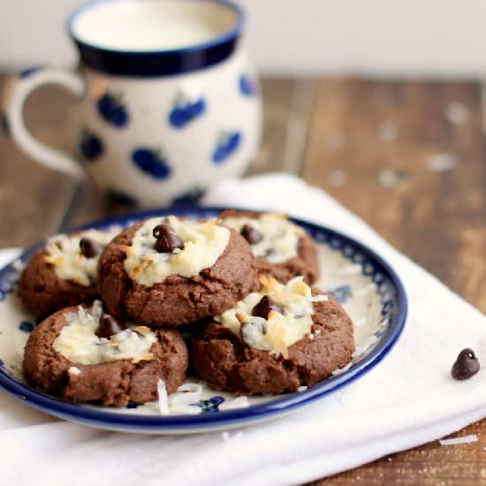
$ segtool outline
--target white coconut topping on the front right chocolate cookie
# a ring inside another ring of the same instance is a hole
[[[261,277],[261,283],[259,292],[248,294],[236,307],[217,316],[216,321],[240,336],[248,346],[277,356],[281,353],[286,358],[288,347],[312,329],[315,297],[303,277],[292,278],[286,285],[273,277]],[[271,310],[268,319],[252,315],[253,308],[265,295],[283,308],[282,314]],[[327,297],[317,301],[322,300]]]

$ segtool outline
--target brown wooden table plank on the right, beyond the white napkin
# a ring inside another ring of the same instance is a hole
[[[485,158],[479,83],[323,80],[303,175],[484,312]],[[486,421],[472,433],[315,484],[486,484]]]

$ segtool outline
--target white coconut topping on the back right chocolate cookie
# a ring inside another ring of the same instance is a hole
[[[241,232],[245,224],[259,232],[262,240],[251,246],[254,257],[270,263],[286,262],[297,256],[299,240],[305,234],[286,216],[274,213],[265,213],[255,217],[228,216],[223,221],[237,232]]]

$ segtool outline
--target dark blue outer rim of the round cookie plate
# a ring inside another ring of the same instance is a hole
[[[163,216],[174,214],[176,216],[195,216],[195,217],[214,217],[220,212],[230,208],[215,208],[191,205],[175,205],[168,209],[149,210],[138,213],[132,213],[125,216],[113,216],[107,219],[96,221],[91,224],[83,224],[72,231],[79,231],[86,228],[104,228],[114,224],[126,225],[137,219]],[[231,208],[234,209],[234,208]],[[239,210],[239,209],[237,209]],[[245,209],[240,209],[245,210]],[[342,242],[343,247],[353,247],[357,253],[364,256],[364,265],[368,262],[380,272],[392,285],[396,295],[396,308],[391,316],[389,325],[383,338],[376,345],[375,349],[361,361],[356,362],[351,368],[338,376],[331,376],[321,383],[308,388],[308,390],[297,393],[289,393],[287,396],[264,402],[261,404],[239,408],[236,410],[218,411],[216,414],[198,414],[198,415],[173,415],[173,416],[153,416],[153,415],[133,415],[110,413],[85,408],[79,405],[65,403],[40,391],[29,388],[23,383],[17,382],[4,369],[0,368],[0,387],[10,393],[14,398],[27,403],[43,412],[57,417],[84,423],[87,425],[98,426],[108,429],[120,429],[125,431],[165,431],[176,432],[178,429],[192,429],[194,431],[204,431],[204,429],[223,428],[224,425],[240,424],[246,422],[260,421],[276,417],[279,414],[291,412],[294,409],[308,406],[318,399],[331,392],[338,391],[343,386],[352,383],[367,373],[371,368],[383,360],[390,353],[391,348],[396,344],[406,323],[407,299],[405,288],[402,285],[398,275],[391,266],[383,260],[381,256],[373,250],[364,246],[355,239],[346,236],[343,233],[330,230],[325,226],[313,224],[302,219],[290,218],[294,223],[302,226],[310,234],[319,233],[325,237],[326,242],[330,242],[330,247],[335,247],[333,242]],[[319,241],[319,240],[317,240]],[[321,241],[322,242],[322,241]],[[22,262],[27,262],[31,254],[43,243],[38,243],[34,247],[27,249],[19,258]],[[18,259],[17,259],[18,260]],[[12,262],[0,270],[0,283],[9,277],[9,274],[17,272],[12,268]]]

